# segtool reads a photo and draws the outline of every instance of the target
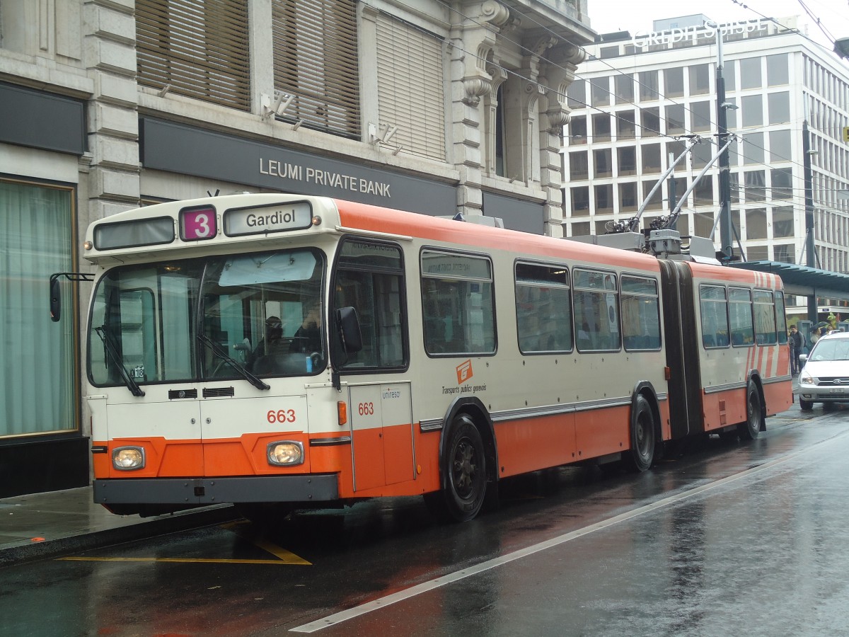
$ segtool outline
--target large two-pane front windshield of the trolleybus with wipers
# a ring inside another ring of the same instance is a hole
[[[311,249],[113,268],[93,298],[89,377],[132,391],[238,378],[264,388],[256,376],[318,374],[323,278]]]

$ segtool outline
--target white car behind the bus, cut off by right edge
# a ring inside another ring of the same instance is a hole
[[[830,410],[834,403],[849,403],[849,332],[832,330],[820,337],[807,356],[799,375],[799,407],[813,409],[823,403]]]

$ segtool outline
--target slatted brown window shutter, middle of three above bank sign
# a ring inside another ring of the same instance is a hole
[[[275,0],[274,88],[294,96],[281,118],[360,138],[353,0]]]

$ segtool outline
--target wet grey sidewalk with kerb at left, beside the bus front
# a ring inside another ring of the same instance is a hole
[[[95,505],[92,488],[0,499],[0,567],[175,533],[238,517],[231,505],[173,515],[115,516]]]

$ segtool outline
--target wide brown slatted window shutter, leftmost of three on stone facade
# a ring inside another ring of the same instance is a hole
[[[250,110],[246,0],[137,0],[138,83]]]

